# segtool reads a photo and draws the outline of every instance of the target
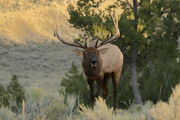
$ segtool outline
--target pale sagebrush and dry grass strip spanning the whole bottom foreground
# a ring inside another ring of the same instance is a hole
[[[67,97],[66,104],[59,96],[44,94],[35,99],[29,96],[26,101],[26,114],[15,114],[10,109],[0,108],[0,120],[180,120],[180,84],[173,89],[169,101],[159,101],[153,105],[131,105],[129,109],[109,108],[102,98],[96,100],[94,108],[80,105],[74,109],[75,97]],[[74,112],[76,110],[76,112]]]

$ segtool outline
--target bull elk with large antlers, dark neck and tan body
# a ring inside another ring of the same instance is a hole
[[[123,65],[123,54],[117,46],[110,44],[110,42],[120,37],[118,21],[113,19],[113,23],[116,29],[115,34],[102,42],[97,40],[93,46],[91,45],[89,47],[87,42],[85,42],[85,45],[82,45],[79,42],[66,42],[62,38],[57,26],[54,35],[63,44],[82,48],[82,50],[75,50],[74,52],[76,55],[83,56],[82,66],[90,87],[90,97],[92,103],[94,103],[95,97],[99,95],[100,89],[102,89],[103,98],[106,98],[108,94],[107,80],[112,77],[113,104],[115,109],[117,88]],[[95,81],[97,83],[96,89],[94,88]]]

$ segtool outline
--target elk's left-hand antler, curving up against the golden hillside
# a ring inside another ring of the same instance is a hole
[[[63,44],[66,44],[66,45],[69,45],[69,46],[73,46],[73,47],[79,47],[79,48],[85,49],[86,46],[83,46],[83,45],[81,45],[81,44],[78,43],[78,42],[75,42],[75,44],[74,44],[74,43],[69,43],[69,42],[66,42],[66,41],[62,38],[60,30],[58,30],[58,15],[59,15],[59,11],[58,11],[58,13],[57,13],[57,23],[56,23],[56,31],[54,32],[54,37],[57,37],[58,40],[61,41]]]

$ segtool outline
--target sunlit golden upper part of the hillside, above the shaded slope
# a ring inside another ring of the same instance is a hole
[[[0,41],[25,44],[30,41],[54,40],[57,11],[60,11],[58,22],[62,25],[63,36],[72,39],[78,35],[78,31],[70,27],[67,21],[67,0],[32,1],[0,0]]]

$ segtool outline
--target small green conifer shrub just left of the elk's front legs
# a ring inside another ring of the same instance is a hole
[[[65,77],[62,78],[59,90],[60,94],[64,94],[65,99],[67,95],[78,96],[81,103],[89,104],[89,89],[83,74],[78,71],[77,66],[72,63],[72,66]],[[77,100],[78,100],[77,99]]]

